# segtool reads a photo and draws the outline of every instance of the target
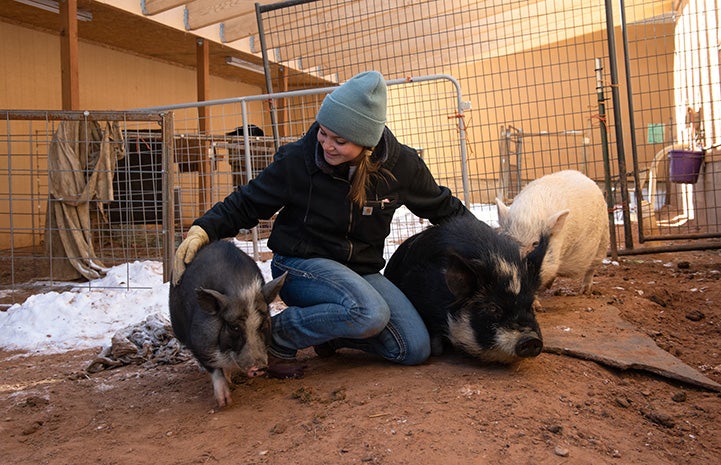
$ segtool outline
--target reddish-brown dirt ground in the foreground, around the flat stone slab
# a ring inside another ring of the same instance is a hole
[[[593,295],[560,280],[541,302],[546,312],[613,306],[721,382],[720,279],[719,251],[626,256],[603,265]],[[0,462],[721,463],[718,393],[565,355],[400,367],[306,350],[304,378],[244,380],[219,411],[193,361],[86,373],[98,352],[0,352]]]

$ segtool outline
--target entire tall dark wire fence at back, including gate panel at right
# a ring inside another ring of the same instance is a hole
[[[606,192],[622,252],[717,245],[689,243],[721,232],[716,2],[292,1],[261,7],[258,21],[264,58],[295,83],[370,68],[455,76],[475,202],[578,169]],[[689,145],[705,175],[676,182],[671,151]]]

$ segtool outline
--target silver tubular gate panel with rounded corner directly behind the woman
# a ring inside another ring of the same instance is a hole
[[[460,198],[466,197],[463,102],[457,82],[451,76],[434,75],[390,80],[388,85],[388,127],[402,143],[416,150],[439,182],[451,187]],[[174,184],[176,237],[182,237],[193,220],[213,203],[269,165],[280,145],[302,137],[314,123],[323,98],[333,89],[323,87],[154,108],[174,113],[176,166],[186,166],[178,170]],[[209,132],[179,133],[177,128],[200,126],[200,106],[205,108],[204,125]],[[207,154],[207,163],[198,163],[192,154]],[[249,231],[241,230],[236,236],[238,246],[257,260],[268,259],[270,252],[265,241],[272,220],[261,220]],[[423,225],[402,209],[387,241],[386,256],[390,257],[394,245]]]

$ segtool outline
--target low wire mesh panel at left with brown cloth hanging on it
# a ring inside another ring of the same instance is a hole
[[[110,267],[160,260],[170,115],[8,111],[0,127],[0,306],[38,290],[103,285]],[[172,173],[172,171],[170,171]],[[120,287],[142,287],[130,276]]]

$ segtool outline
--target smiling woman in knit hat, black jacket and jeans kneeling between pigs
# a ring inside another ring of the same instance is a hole
[[[273,277],[288,272],[280,293],[288,307],[273,317],[271,358],[293,360],[310,346],[321,356],[352,347],[406,365],[430,355],[420,316],[380,274],[384,242],[401,205],[434,224],[470,213],[385,127],[386,101],[377,71],[335,89],[306,135],[195,220],[178,247],[174,282],[200,247],[280,210],[268,247]]]

